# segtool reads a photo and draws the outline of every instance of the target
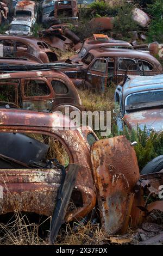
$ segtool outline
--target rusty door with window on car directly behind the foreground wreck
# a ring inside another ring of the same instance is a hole
[[[46,78],[23,78],[22,86],[22,108],[29,110],[51,110],[54,91]]]

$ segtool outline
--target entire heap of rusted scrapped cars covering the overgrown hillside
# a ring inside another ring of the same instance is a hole
[[[62,223],[92,216],[109,235],[136,229],[156,207],[146,205],[144,194],[158,195],[162,169],[149,173],[147,166],[140,174],[134,144],[125,136],[99,140],[89,126],[78,127],[62,113],[65,107],[85,111],[78,88],[103,94],[116,84],[118,130],[139,125],[149,134],[161,132],[163,75],[155,52],[107,34],[80,41],[66,23],[79,19],[75,0],[42,2],[47,27],[39,38],[33,32],[40,6],[13,6],[9,31],[0,35],[0,215],[16,209],[52,216],[51,243]],[[0,2],[0,14],[0,22],[7,19],[7,4]],[[139,15],[135,8],[134,19]],[[148,24],[149,16],[143,21]],[[76,54],[59,60],[57,50],[70,49]],[[64,158],[57,158],[56,147]]]

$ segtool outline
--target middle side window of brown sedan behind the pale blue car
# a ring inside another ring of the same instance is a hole
[[[126,71],[126,70],[139,71],[139,68],[136,65],[136,62],[133,59],[119,59],[118,60],[118,69],[124,70],[124,71]]]

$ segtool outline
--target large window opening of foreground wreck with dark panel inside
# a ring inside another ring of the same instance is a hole
[[[27,169],[50,169],[51,164],[47,164],[50,159],[57,159],[65,167],[70,161],[64,145],[52,136],[1,132],[0,143],[1,169],[22,169],[24,166]]]

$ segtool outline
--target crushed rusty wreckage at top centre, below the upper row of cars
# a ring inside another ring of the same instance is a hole
[[[61,51],[70,49],[77,50],[81,47],[80,39],[68,28],[67,24],[53,25],[52,27],[40,31],[40,39],[47,42],[53,48]]]

